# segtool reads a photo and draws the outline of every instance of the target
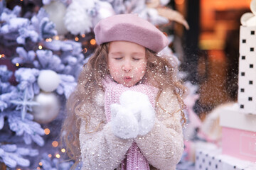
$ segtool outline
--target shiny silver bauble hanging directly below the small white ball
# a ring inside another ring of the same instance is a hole
[[[35,97],[35,101],[39,103],[38,106],[33,106],[33,117],[36,122],[50,123],[57,117],[60,103],[55,94],[41,92]]]

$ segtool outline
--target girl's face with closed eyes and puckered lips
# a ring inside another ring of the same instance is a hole
[[[146,49],[133,42],[113,41],[107,61],[114,81],[127,87],[134,86],[146,72]]]

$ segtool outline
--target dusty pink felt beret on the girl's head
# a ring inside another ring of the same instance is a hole
[[[120,14],[102,19],[94,28],[97,45],[111,41],[129,41],[159,52],[168,45],[166,35],[135,14]]]

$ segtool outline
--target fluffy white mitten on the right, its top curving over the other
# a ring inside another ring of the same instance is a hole
[[[139,135],[146,135],[155,122],[155,111],[146,94],[138,91],[124,91],[120,96],[121,106],[134,114],[139,123]]]

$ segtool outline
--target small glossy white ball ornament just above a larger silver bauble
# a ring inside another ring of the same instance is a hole
[[[46,92],[55,91],[60,84],[60,77],[53,70],[42,70],[38,77],[38,86]]]

